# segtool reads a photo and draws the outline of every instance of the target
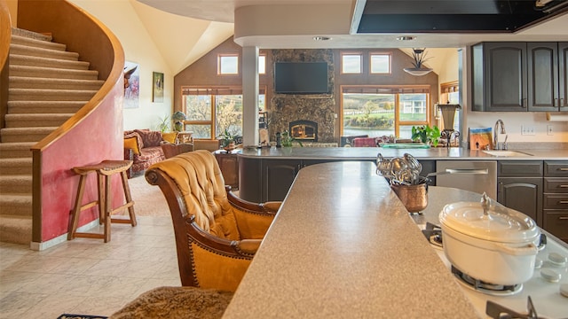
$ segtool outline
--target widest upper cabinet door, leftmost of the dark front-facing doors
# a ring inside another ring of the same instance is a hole
[[[526,43],[485,43],[485,111],[526,111]]]

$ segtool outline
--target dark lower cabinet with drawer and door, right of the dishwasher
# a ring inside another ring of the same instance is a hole
[[[499,161],[497,201],[542,226],[542,161]]]

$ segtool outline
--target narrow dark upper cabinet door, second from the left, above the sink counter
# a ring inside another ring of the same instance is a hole
[[[558,43],[527,43],[528,110],[558,111]]]

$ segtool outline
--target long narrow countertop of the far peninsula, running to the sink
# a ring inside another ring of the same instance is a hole
[[[520,156],[492,156],[483,151],[469,150],[461,147],[430,148],[430,149],[385,149],[382,147],[270,147],[247,148],[238,150],[240,156],[246,158],[271,159],[345,159],[369,160],[375,159],[377,153],[386,158],[402,157],[409,153],[417,159],[483,159],[483,160],[567,160],[568,149],[530,149],[513,150]],[[525,154],[525,155],[524,155]]]

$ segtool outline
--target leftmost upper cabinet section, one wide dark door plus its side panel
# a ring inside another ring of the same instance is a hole
[[[472,46],[474,111],[526,111],[526,43]]]

